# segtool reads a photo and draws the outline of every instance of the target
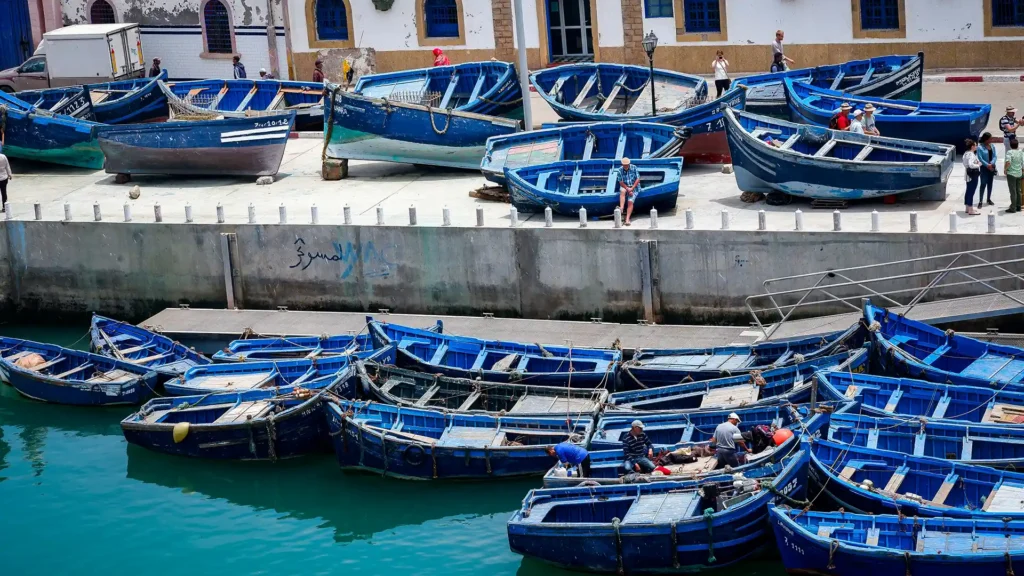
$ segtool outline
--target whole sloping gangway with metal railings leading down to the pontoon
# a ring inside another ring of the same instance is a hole
[[[772,278],[746,310],[764,340],[843,330],[862,302],[941,323],[1024,313],[1024,244]]]

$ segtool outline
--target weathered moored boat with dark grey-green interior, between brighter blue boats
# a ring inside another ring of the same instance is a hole
[[[451,378],[374,361],[356,362],[358,393],[394,406],[511,416],[596,416],[608,398],[599,388],[566,388]]]

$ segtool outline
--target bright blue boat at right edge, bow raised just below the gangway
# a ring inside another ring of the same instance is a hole
[[[969,386],[1024,384],[1024,349],[983,342],[904,318],[870,303],[876,362],[886,373]]]

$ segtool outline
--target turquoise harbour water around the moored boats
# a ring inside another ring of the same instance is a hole
[[[63,345],[84,331],[0,326]],[[330,457],[176,458],[128,446],[127,412],[0,385],[0,573],[570,574],[509,551],[505,523],[537,481],[401,482],[343,474]],[[783,574],[773,561],[729,572]]]

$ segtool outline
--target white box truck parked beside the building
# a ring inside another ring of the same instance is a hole
[[[82,24],[47,32],[22,66],[0,72],[0,90],[19,92],[145,76],[137,24]]]

